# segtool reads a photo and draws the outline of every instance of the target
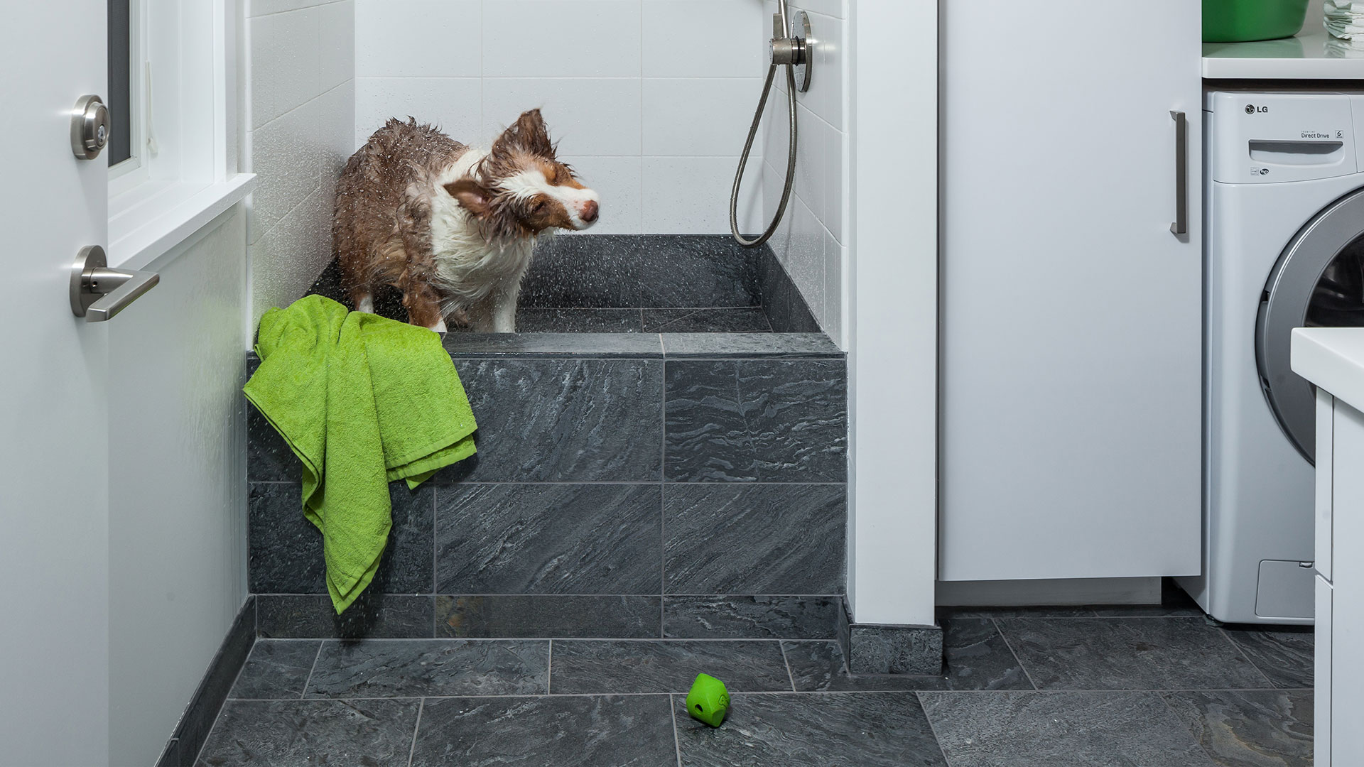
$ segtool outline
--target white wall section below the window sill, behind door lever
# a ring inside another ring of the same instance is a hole
[[[246,594],[246,214],[109,322],[109,764],[153,764]]]

